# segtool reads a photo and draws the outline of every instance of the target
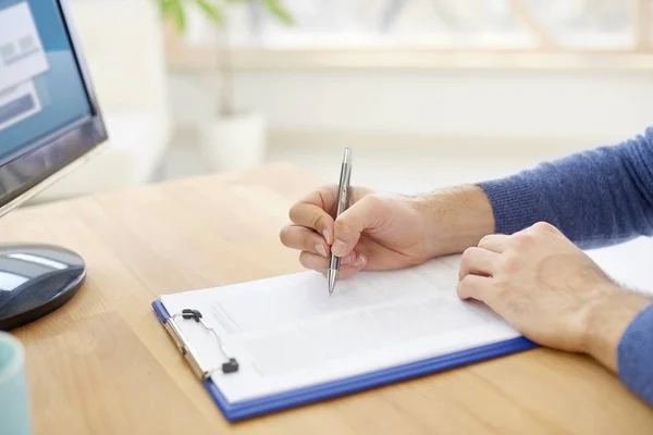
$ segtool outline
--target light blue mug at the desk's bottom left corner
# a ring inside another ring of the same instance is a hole
[[[0,435],[32,434],[25,348],[0,332]]]

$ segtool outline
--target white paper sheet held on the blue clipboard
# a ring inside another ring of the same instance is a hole
[[[306,272],[163,296],[170,313],[202,312],[238,360],[213,381],[230,402],[518,337],[496,314],[456,296],[459,257],[338,282]],[[178,325],[204,366],[224,359],[193,321]]]

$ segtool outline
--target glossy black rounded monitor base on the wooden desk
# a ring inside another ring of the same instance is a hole
[[[0,245],[0,331],[34,322],[67,302],[86,277],[84,259],[48,245]]]

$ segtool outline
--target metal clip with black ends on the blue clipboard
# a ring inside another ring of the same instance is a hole
[[[213,368],[213,369],[207,370],[200,365],[199,360],[197,359],[196,353],[193,351],[193,348],[192,348],[189,341],[186,339],[186,337],[184,336],[184,333],[182,333],[182,330],[175,322],[175,320],[180,319],[180,318],[185,319],[185,320],[194,320],[197,323],[201,323],[201,325],[207,331],[210,331],[213,334],[213,336],[215,337],[215,340],[218,341],[218,346],[220,346],[220,350],[226,358],[226,361],[223,362],[220,368]],[[218,335],[215,330],[213,330],[211,326],[209,326],[204,321],[201,313],[198,310],[184,309],[184,310],[182,310],[181,313],[171,315],[165,321],[164,326],[165,326],[165,331],[168,331],[168,333],[172,337],[173,341],[175,343],[175,345],[177,346],[177,348],[180,349],[180,351],[182,352],[184,358],[186,358],[186,360],[188,361],[188,364],[190,365],[190,368],[193,369],[195,374],[201,381],[209,378],[211,376],[211,374],[217,371],[221,371],[222,373],[225,373],[225,374],[234,373],[234,372],[238,371],[238,361],[236,361],[236,359],[226,350],[226,348],[224,347],[224,344],[222,343],[222,339],[220,338],[220,336]]]

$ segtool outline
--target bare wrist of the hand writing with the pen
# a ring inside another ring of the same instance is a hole
[[[460,253],[494,232],[494,214],[484,191],[473,185],[415,198],[424,224],[428,257]]]

